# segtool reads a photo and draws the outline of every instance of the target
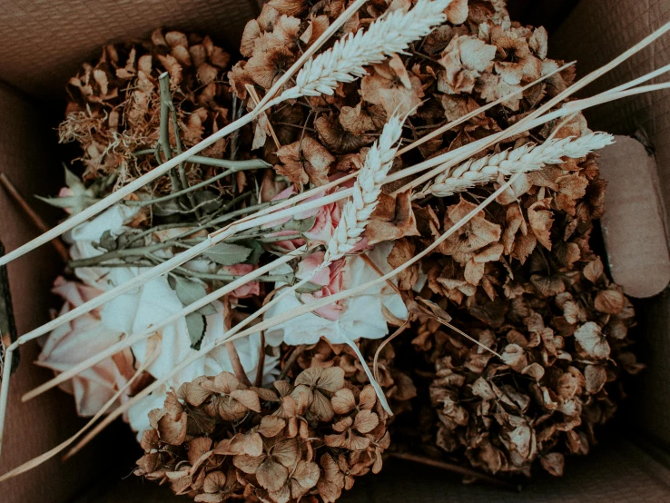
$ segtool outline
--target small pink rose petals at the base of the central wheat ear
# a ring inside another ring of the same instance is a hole
[[[315,271],[321,263],[323,263],[324,252],[314,252],[306,257],[298,265],[298,271],[296,276],[299,279],[307,278],[312,271]],[[310,301],[315,301],[317,299],[323,299],[325,297],[330,297],[344,289],[344,260],[334,261],[330,266],[323,268],[323,270],[317,272],[311,279],[310,282],[316,286],[322,287],[320,291],[314,291],[312,293],[303,293],[301,296],[301,301],[309,303]],[[344,311],[344,304],[341,302],[333,302],[327,306],[324,306],[318,310],[315,310],[314,313],[326,318],[330,321],[336,321],[340,319]]]

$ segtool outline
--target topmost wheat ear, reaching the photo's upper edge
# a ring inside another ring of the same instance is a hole
[[[295,86],[287,89],[281,98],[333,94],[338,83],[365,75],[365,66],[404,52],[409,44],[442,25],[447,21],[444,12],[451,2],[419,0],[408,12],[396,10],[379,17],[367,31],[346,36],[308,61],[296,77]]]

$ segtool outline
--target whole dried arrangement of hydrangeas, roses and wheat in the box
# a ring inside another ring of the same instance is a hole
[[[105,47],[60,129],[72,216],[0,259],[66,232],[64,308],[5,362],[49,334],[24,398],[92,419],[0,479],[118,417],[136,474],[195,501],[335,501],[409,446],[561,475],[642,368],[581,111],[667,84],[566,100],[668,30],[578,82],[498,0],[271,0],[232,65],[179,32]]]

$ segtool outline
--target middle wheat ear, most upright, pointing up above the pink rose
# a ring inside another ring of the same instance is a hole
[[[337,261],[360,242],[360,236],[379,203],[381,187],[393,166],[398,150],[395,145],[402,134],[403,123],[404,119],[392,116],[384,126],[379,142],[369,149],[359,177],[354,183],[352,198],[344,205],[340,223],[328,243],[324,263]]]

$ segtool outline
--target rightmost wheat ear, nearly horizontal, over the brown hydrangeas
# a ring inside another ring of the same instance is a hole
[[[563,158],[579,159],[588,153],[600,150],[614,143],[614,137],[607,133],[589,133],[579,138],[547,140],[541,145],[527,143],[516,149],[487,155],[459,165],[450,172],[440,173],[435,182],[427,185],[416,198],[427,195],[448,197],[464,192],[475,185],[494,182],[499,175],[511,176],[516,173],[537,171],[547,164],[563,163]]]

